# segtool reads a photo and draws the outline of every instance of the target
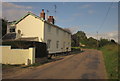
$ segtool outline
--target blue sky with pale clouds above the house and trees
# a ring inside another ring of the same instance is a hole
[[[55,6],[56,5],[56,13]],[[28,11],[40,15],[44,9],[54,16],[55,24],[72,33],[84,31],[88,37],[118,40],[117,2],[4,2],[2,17],[17,20]]]

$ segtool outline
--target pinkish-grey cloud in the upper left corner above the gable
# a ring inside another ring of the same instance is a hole
[[[2,17],[6,18],[8,21],[14,21],[24,16],[30,9],[32,9],[30,6],[22,6],[9,2],[3,2]]]

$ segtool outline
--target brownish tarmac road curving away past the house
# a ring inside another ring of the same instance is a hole
[[[84,52],[66,56],[64,59],[23,71],[9,79],[106,79],[103,56],[100,51],[86,49]]]

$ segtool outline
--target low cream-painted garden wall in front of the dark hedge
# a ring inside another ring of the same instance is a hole
[[[11,49],[11,46],[0,46],[2,64],[33,64],[35,63],[35,48]]]

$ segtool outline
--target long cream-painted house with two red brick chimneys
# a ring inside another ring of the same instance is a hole
[[[15,40],[45,42],[49,53],[71,51],[71,33],[56,26],[53,16],[45,20],[42,10],[40,17],[28,12],[18,21],[9,24],[7,33],[15,33]]]

